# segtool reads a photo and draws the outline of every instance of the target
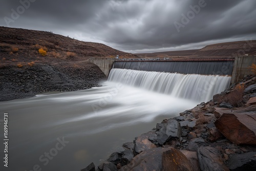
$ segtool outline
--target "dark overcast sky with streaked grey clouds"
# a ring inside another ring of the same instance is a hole
[[[0,26],[52,31],[131,53],[256,39],[255,0],[0,2]]]

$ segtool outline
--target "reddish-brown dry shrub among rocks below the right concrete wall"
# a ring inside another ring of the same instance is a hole
[[[237,84],[236,87],[234,87],[234,90],[229,92],[223,99],[223,101],[231,104],[234,107],[240,107],[243,106],[243,92],[244,92],[244,83],[243,84]]]

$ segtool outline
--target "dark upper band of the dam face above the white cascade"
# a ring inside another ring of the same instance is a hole
[[[114,68],[181,74],[231,75],[233,61],[116,61]]]

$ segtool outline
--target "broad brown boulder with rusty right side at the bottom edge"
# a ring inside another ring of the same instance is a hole
[[[166,152],[166,153],[165,153]],[[131,163],[121,167],[120,171],[135,170],[191,170],[189,160],[175,148],[153,148],[135,156]]]

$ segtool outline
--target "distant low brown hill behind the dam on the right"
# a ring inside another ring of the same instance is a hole
[[[256,40],[234,41],[208,45],[202,49],[139,53],[139,57],[169,57],[172,59],[233,59],[240,55],[256,55]]]

